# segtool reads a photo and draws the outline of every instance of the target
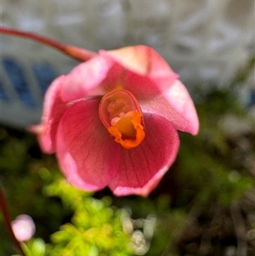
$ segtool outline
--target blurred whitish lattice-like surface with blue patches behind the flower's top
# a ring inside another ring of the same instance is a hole
[[[94,51],[149,45],[188,87],[194,83],[227,84],[254,55],[254,0],[1,3],[2,26],[36,32]],[[1,47],[0,121],[25,128],[39,122],[48,82],[77,62],[15,37],[2,36]]]

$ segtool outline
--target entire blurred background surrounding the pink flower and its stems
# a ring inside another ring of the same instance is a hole
[[[50,82],[78,62],[1,35],[1,186],[12,219],[35,221],[31,255],[253,255],[254,1],[2,0],[1,26],[94,51],[149,45],[180,75],[201,122],[198,136],[180,134],[178,159],[148,198],[77,191],[26,128],[40,121]],[[14,253],[5,231],[0,245]]]

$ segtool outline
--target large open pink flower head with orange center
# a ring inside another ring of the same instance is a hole
[[[54,80],[32,130],[72,185],[147,196],[175,160],[177,130],[198,127],[178,75],[152,48],[135,46],[101,50]]]

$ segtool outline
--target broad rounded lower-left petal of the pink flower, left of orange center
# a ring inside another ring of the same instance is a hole
[[[120,164],[120,148],[98,114],[99,100],[71,105],[59,123],[57,156],[66,179],[88,191],[104,188]]]

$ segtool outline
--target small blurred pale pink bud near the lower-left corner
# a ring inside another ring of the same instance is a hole
[[[26,242],[35,234],[36,226],[29,215],[21,214],[12,221],[12,229],[16,239]]]

